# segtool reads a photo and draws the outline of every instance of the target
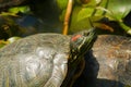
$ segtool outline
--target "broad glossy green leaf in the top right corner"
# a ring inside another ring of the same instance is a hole
[[[108,10],[121,20],[131,11],[131,0],[109,0]]]

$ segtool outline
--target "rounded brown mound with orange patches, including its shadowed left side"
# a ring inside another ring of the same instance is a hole
[[[131,86],[130,37],[98,35],[85,61],[85,69],[73,87]]]

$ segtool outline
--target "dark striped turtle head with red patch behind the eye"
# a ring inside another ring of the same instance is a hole
[[[73,60],[85,54],[94,45],[97,38],[95,28],[80,32],[71,37],[70,48]]]

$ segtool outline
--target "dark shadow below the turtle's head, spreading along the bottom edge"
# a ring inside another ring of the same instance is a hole
[[[99,63],[93,55],[93,51],[88,51],[85,54],[85,69],[82,75],[76,79],[73,87],[127,87],[117,80],[110,80],[106,78],[97,78],[99,71]],[[130,86],[128,86],[130,87]]]

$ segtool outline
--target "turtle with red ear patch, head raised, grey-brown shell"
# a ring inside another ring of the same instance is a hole
[[[61,87],[70,87],[68,83],[72,82],[83,54],[95,39],[94,29],[72,37],[37,34],[3,47],[0,49],[0,87],[60,87],[66,76]]]

